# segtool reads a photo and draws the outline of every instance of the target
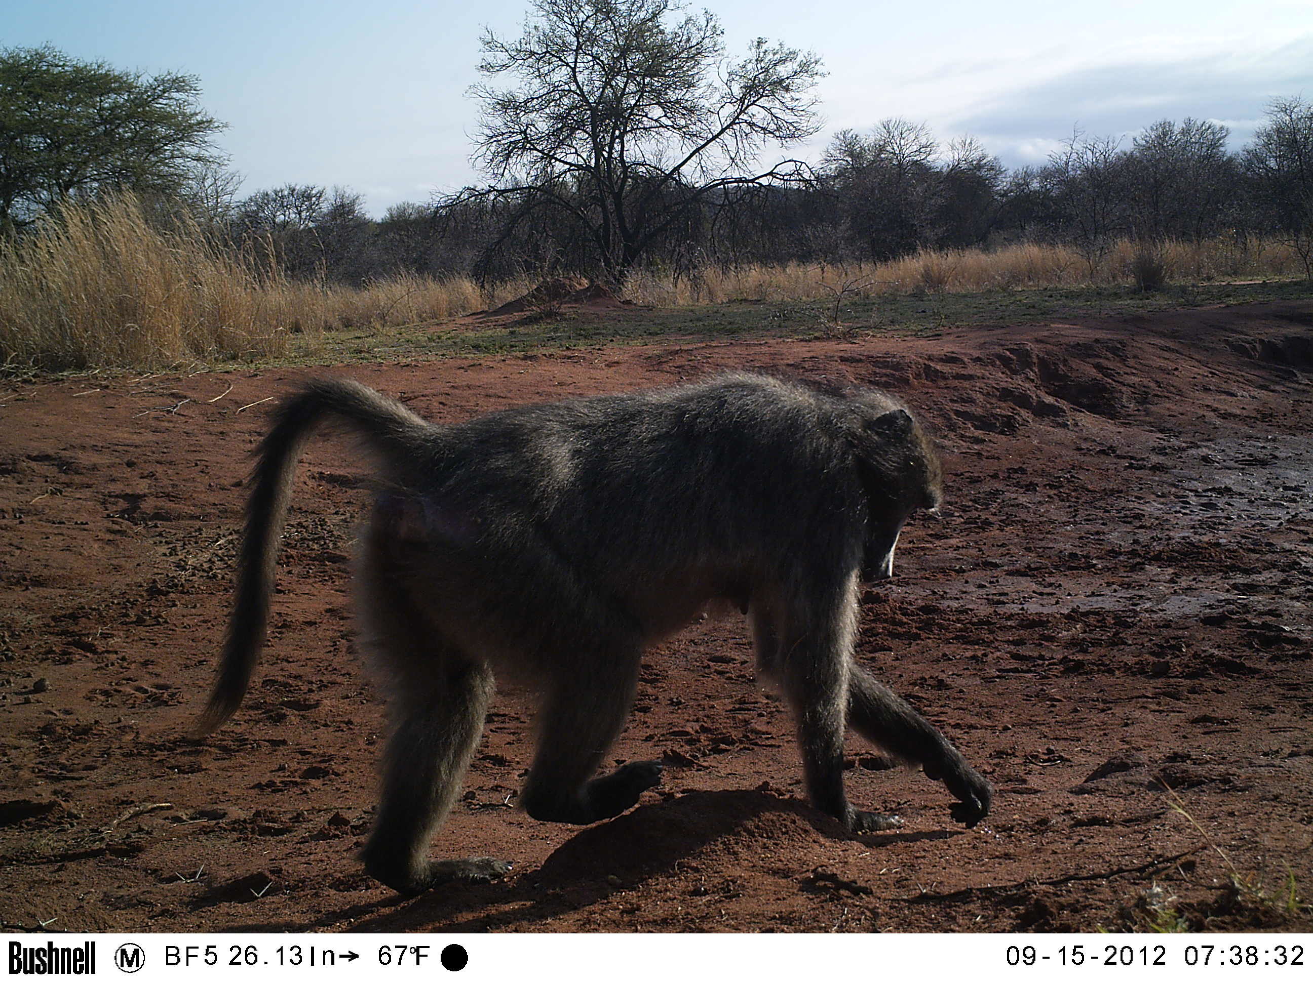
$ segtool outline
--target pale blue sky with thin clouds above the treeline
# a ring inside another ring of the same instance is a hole
[[[818,54],[825,127],[888,117],[1010,167],[1074,127],[1129,146],[1158,119],[1228,126],[1236,148],[1274,98],[1313,100],[1310,0],[708,0],[727,54],[755,37]],[[0,0],[0,47],[198,77],[242,194],[345,186],[374,215],[479,181],[470,164],[484,29],[519,37],[529,0]],[[767,161],[769,163],[769,161]]]

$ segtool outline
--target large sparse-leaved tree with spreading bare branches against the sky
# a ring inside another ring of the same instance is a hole
[[[549,213],[613,282],[680,224],[798,178],[758,160],[819,129],[815,55],[758,38],[729,60],[717,18],[679,0],[534,0],[519,39],[482,47],[474,161],[492,186],[445,203],[499,199],[507,236]]]

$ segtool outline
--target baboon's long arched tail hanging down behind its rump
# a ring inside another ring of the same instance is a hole
[[[316,379],[285,399],[273,428],[256,449],[246,529],[238,559],[236,598],[228,621],[219,676],[193,733],[209,735],[246,697],[264,646],[273,593],[278,537],[291,497],[297,459],[315,428],[328,417],[345,421],[385,462],[415,461],[431,425],[397,400],[349,379]]]

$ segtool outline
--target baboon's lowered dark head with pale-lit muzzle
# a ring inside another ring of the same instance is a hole
[[[863,419],[851,445],[868,509],[861,579],[882,581],[894,575],[894,547],[907,517],[918,509],[939,509],[939,455],[901,407]]]

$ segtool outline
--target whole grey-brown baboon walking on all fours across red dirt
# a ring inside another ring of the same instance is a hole
[[[200,735],[246,694],[295,462],[330,419],[360,438],[377,474],[355,590],[362,646],[390,681],[382,799],[361,854],[379,882],[418,893],[509,869],[427,857],[503,669],[541,691],[520,794],[529,816],[590,824],[634,806],[660,762],[596,773],[641,655],[725,600],[747,614],[759,673],[794,711],[818,808],[852,832],[897,823],[844,795],[851,724],[943,781],[956,820],[973,827],[989,811],[989,783],[852,659],[859,579],[890,576],[909,514],[939,506],[928,440],[878,391],[752,374],[442,426],[356,382],[299,386],[257,449]]]

